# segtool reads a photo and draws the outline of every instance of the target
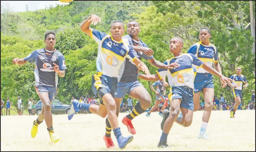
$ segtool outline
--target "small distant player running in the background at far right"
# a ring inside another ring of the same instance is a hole
[[[242,72],[242,69],[241,67],[237,67],[236,68],[236,74],[232,75],[230,78],[233,79],[233,88],[232,88],[232,92],[233,92],[233,95],[234,95],[234,98],[235,98],[235,105],[233,107],[231,107],[231,110],[230,110],[230,117],[231,118],[235,118],[234,115],[235,115],[235,112],[238,108],[238,106],[241,104],[242,102],[242,86],[243,86],[243,83],[245,83],[245,85],[243,86],[243,88],[247,88],[248,86],[248,83],[247,83],[247,80],[245,78],[244,75],[241,74]]]

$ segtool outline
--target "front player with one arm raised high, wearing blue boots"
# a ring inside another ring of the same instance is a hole
[[[97,15],[92,14],[82,23],[80,29],[93,38],[99,45],[96,61],[98,74],[92,75],[92,90],[101,102],[98,106],[81,104],[75,99],[71,104],[68,118],[71,120],[74,113],[80,110],[86,110],[102,118],[108,115],[107,120],[111,128],[113,128],[119,148],[125,148],[125,146],[131,142],[133,136],[123,137],[118,125],[116,102],[113,97],[117,88],[119,68],[125,61],[125,58],[129,57],[138,69],[145,71],[147,74],[149,74],[149,71],[147,66],[137,58],[134,49],[122,42],[122,35],[125,32],[124,24],[121,21],[112,22],[112,36],[110,36],[90,28],[91,22],[96,25],[99,21],[101,21],[101,19]]]

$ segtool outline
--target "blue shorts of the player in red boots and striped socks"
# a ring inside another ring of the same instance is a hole
[[[139,81],[118,82],[118,86],[115,92],[115,98],[123,98],[126,93],[128,93],[129,95],[133,89],[139,86],[143,86]]]

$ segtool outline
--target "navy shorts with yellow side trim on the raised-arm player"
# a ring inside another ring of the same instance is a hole
[[[114,98],[117,84],[118,78],[116,77],[108,77],[106,75],[102,75],[99,72],[98,74],[92,75],[92,91],[94,95],[99,98],[102,105],[104,105],[102,97],[106,93],[110,93]]]

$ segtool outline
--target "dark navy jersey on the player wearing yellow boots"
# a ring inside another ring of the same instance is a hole
[[[35,61],[35,85],[45,85],[57,87],[58,74],[53,71],[52,67],[55,64],[59,66],[59,70],[66,70],[65,59],[62,53],[58,50],[48,51],[44,49],[34,50],[24,58],[30,63]]]

